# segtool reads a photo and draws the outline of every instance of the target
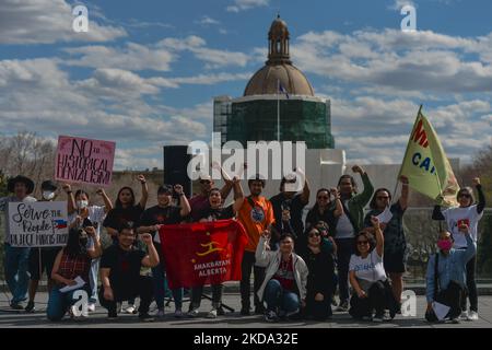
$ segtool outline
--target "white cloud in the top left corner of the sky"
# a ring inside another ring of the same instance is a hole
[[[99,24],[94,18],[89,8],[89,32],[75,33],[72,7],[65,0],[2,0],[0,44],[109,42],[127,36],[124,28]]]

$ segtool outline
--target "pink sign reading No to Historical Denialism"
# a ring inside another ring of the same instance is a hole
[[[60,136],[55,179],[108,187],[114,161],[115,142]]]

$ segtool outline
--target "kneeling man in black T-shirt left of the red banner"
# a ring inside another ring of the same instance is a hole
[[[128,224],[124,225],[117,234],[118,244],[104,250],[101,259],[103,285],[99,301],[107,308],[109,319],[117,317],[117,303],[140,296],[139,318],[143,322],[154,320],[149,315],[153,293],[152,278],[140,276],[140,268],[157,266],[159,255],[149,233],[141,235],[149,254],[133,245],[136,238],[133,229]]]

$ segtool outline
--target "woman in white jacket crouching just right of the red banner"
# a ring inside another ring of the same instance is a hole
[[[258,298],[267,303],[267,322],[276,322],[279,316],[298,314],[305,306],[307,266],[293,253],[294,238],[291,234],[280,237],[277,252],[269,250],[270,233],[265,231],[256,248],[256,265],[266,267],[265,280],[258,290]]]

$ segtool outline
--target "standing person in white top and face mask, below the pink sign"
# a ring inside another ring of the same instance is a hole
[[[66,184],[63,185],[63,189],[67,192],[69,200],[69,222],[70,228],[81,229],[84,226],[94,226],[96,236],[101,237],[101,226],[103,225],[106,213],[113,209],[113,203],[109,197],[106,195],[104,189],[97,189],[96,194],[102,197],[104,206],[95,206],[90,203],[89,194],[82,189],[79,189],[75,192],[75,196],[72,194],[71,186]],[[91,247],[94,244],[92,238],[89,240],[87,247]],[[99,272],[99,259],[94,259],[91,262],[91,272],[90,284],[91,284],[91,294],[89,299],[87,310],[90,312],[95,311],[95,304],[97,303],[97,276]]]

